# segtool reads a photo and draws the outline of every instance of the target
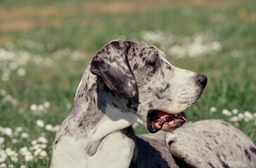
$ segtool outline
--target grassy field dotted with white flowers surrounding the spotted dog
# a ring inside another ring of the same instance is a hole
[[[208,77],[189,121],[225,120],[256,143],[256,1],[0,3],[0,167],[49,167],[91,57],[116,38],[145,41]],[[136,134],[146,132],[134,125]]]

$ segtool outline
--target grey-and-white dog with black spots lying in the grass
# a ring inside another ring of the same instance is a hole
[[[184,111],[206,84],[206,76],[172,66],[153,45],[106,44],[56,133],[51,167],[256,167],[255,145],[235,127],[220,120],[184,125]],[[137,137],[135,122],[155,134]]]

